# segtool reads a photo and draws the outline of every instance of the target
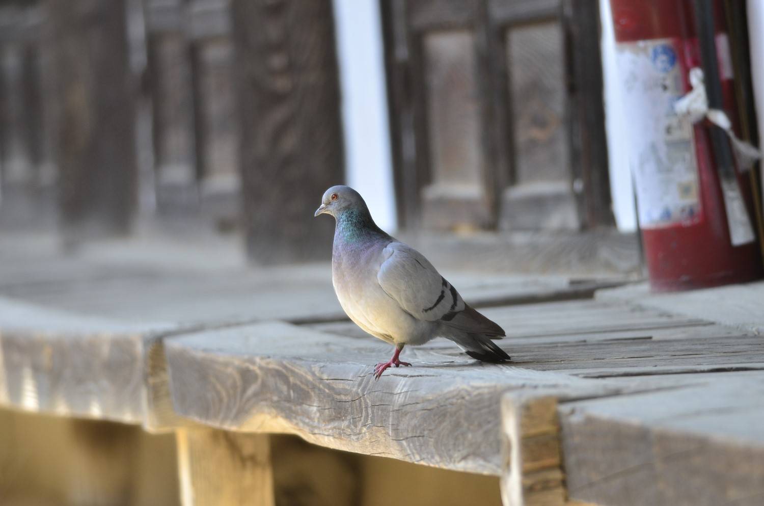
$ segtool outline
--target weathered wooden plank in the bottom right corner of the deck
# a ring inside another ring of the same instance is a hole
[[[572,498],[609,506],[762,504],[760,372],[558,410]]]

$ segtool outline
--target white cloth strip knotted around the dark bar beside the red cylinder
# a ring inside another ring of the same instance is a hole
[[[737,138],[727,113],[720,109],[710,109],[708,107],[708,97],[706,96],[706,87],[703,80],[702,69],[696,66],[690,70],[692,90],[674,102],[674,112],[683,118],[688,118],[693,123],[707,118],[708,121],[726,131],[732,143],[738,167],[740,167],[740,170],[749,170],[756,161],[761,159],[762,152],[754,147],[753,144]]]

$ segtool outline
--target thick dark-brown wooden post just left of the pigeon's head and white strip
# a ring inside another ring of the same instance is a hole
[[[313,211],[344,179],[332,2],[231,6],[248,251],[264,264],[329,258],[334,223]]]

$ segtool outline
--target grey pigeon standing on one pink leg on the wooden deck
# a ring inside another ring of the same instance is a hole
[[[450,339],[483,362],[510,360],[494,343],[506,332],[470,307],[416,249],[391,237],[371,219],[363,197],[342,185],[326,190],[314,216],[335,218],[332,284],[356,325],[395,346],[393,358],[374,367],[379,379],[400,361],[405,345]]]

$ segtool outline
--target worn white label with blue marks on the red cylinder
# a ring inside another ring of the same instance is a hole
[[[629,162],[643,229],[693,222],[701,213],[693,127],[673,106],[685,94],[678,57],[674,39],[617,44]]]

